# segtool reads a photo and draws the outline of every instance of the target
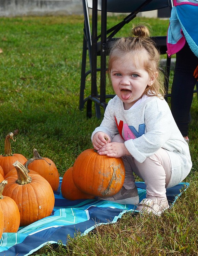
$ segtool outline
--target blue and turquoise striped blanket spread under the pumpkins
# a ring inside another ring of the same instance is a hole
[[[0,240],[0,256],[25,256],[39,250],[48,243],[67,244],[67,236],[74,237],[77,232],[87,234],[96,225],[115,223],[126,212],[135,211],[135,205],[122,205],[103,200],[70,201],[62,197],[60,187],[55,192],[55,207],[51,216],[38,220],[17,233],[3,233]],[[136,183],[140,201],[145,198],[143,182]],[[169,203],[174,204],[188,183],[167,189]]]

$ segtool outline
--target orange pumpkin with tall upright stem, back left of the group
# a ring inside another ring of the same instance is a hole
[[[27,158],[22,154],[12,154],[10,139],[14,140],[14,134],[11,132],[5,137],[4,155],[0,156],[0,165],[3,168],[4,175],[13,169],[13,163],[19,161],[24,164]]]

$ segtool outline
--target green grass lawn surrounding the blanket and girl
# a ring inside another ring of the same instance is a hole
[[[118,17],[119,18],[119,17]],[[117,17],[110,17],[114,24]],[[0,153],[4,139],[17,131],[12,152],[32,157],[37,148],[51,158],[60,176],[76,157],[92,147],[90,136],[101,120],[79,111],[83,16],[0,18]],[[136,18],[166,35],[168,20]],[[109,26],[109,24],[108,24]],[[128,35],[131,24],[118,33]],[[171,75],[172,79],[172,75]],[[90,93],[87,77],[86,96]],[[107,92],[112,92],[108,85]],[[94,109],[93,109],[94,113]],[[47,245],[37,255],[198,255],[198,104],[194,95],[189,138],[191,185],[161,218],[125,214],[116,224],[100,226],[68,245]]]

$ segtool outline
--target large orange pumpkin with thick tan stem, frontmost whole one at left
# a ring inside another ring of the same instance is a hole
[[[18,161],[13,166],[17,175],[8,177],[3,196],[11,197],[16,202],[20,212],[20,226],[50,216],[55,198],[48,181],[41,175],[28,174],[26,167]]]

